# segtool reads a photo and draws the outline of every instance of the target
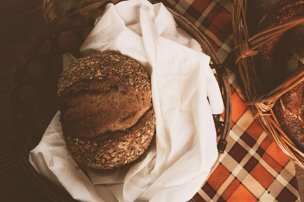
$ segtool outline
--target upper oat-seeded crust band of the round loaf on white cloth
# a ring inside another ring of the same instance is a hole
[[[123,81],[134,91],[151,90],[148,74],[139,63],[113,52],[99,52],[76,60],[62,73],[58,97],[63,97],[77,82],[89,80]]]

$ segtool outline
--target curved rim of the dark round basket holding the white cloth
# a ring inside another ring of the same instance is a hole
[[[82,7],[77,8],[79,13],[81,14],[85,9],[89,8],[100,8],[104,6],[106,3],[108,3],[108,0],[100,0],[100,1],[94,1],[88,4],[83,5]],[[215,69],[217,71],[217,74],[219,76],[219,80],[222,85],[222,91],[224,93],[224,105],[225,105],[225,116],[224,116],[224,122],[223,124],[223,134],[221,134],[220,141],[218,144],[218,149],[219,149],[219,155],[224,152],[226,144],[227,144],[227,138],[229,136],[230,132],[230,124],[231,124],[231,115],[232,115],[232,102],[231,102],[231,93],[230,93],[230,87],[229,87],[229,82],[227,78],[227,74],[225,72],[225,68],[222,64],[220,64],[216,51],[214,48],[211,46],[209,41],[205,38],[203,33],[199,31],[198,28],[196,28],[189,20],[186,19],[186,17],[180,15],[173,9],[170,9],[169,7],[166,6],[166,8],[170,11],[170,13],[175,16],[180,18],[183,23],[185,23],[187,26],[189,26],[189,29],[192,29],[194,31],[194,34],[196,34],[197,37],[200,37],[201,41],[199,42],[204,43],[205,48],[209,50],[209,55],[215,65]],[[83,9],[83,10],[82,10]],[[53,187],[49,184],[46,184],[44,182],[43,177],[35,171],[34,167],[30,164],[29,162],[29,156],[27,148],[28,148],[28,143],[27,140],[24,140],[21,132],[17,128],[17,99],[19,95],[19,90],[20,90],[20,82],[24,76],[24,72],[27,68],[27,66],[30,63],[31,58],[33,58],[34,50],[40,47],[46,40],[47,37],[50,35],[48,32],[50,30],[58,30],[60,27],[62,27],[64,24],[70,23],[72,21],[72,18],[69,13],[66,13],[60,17],[58,17],[56,20],[52,21],[49,26],[47,26],[41,34],[36,38],[36,40],[32,43],[32,45],[28,48],[26,53],[23,56],[23,59],[20,63],[20,66],[18,69],[15,70],[14,73],[14,78],[13,78],[13,84],[11,88],[11,99],[10,99],[10,107],[9,107],[9,112],[10,112],[10,129],[11,129],[11,136],[13,143],[16,147],[16,152],[20,161],[20,164],[22,168],[26,171],[26,173],[30,176],[30,179],[34,182],[36,186],[45,194],[47,195],[51,200],[56,201],[56,202],[66,202],[66,201],[71,201],[70,195],[68,192],[66,193],[65,196],[58,196],[58,194],[54,193]],[[184,29],[184,28],[183,28]],[[52,34],[54,31],[52,32]],[[192,34],[191,34],[192,35]],[[201,44],[201,46],[203,46]],[[218,115],[218,118],[220,118],[220,115]],[[217,160],[218,161],[218,160]],[[217,162],[216,161],[216,162]],[[213,170],[216,168],[216,164],[213,166]],[[212,173],[210,171],[209,175]],[[76,200],[73,200],[76,202]]]

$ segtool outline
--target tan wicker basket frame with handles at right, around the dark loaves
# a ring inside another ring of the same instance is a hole
[[[304,81],[304,67],[300,68],[292,77],[277,86],[269,93],[264,92],[255,73],[253,56],[259,48],[274,37],[304,22],[304,15],[293,17],[278,25],[270,27],[253,36],[249,36],[246,22],[246,0],[235,0],[233,13],[234,50],[236,52],[236,64],[241,78],[247,104],[252,109],[253,115],[265,132],[277,143],[289,158],[304,168],[304,154],[289,139],[280,127],[272,107],[284,93],[287,93],[296,85]]]

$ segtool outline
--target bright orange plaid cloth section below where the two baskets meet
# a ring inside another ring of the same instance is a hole
[[[294,163],[254,120],[236,75],[228,76],[233,112],[227,148],[193,202],[300,202]]]

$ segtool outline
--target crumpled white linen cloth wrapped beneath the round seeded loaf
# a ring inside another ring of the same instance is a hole
[[[151,76],[156,134],[128,168],[82,171],[65,146],[57,112],[30,153],[36,171],[82,202],[190,200],[217,158],[212,113],[224,110],[209,56],[162,3],[146,0],[108,4],[80,51],[115,51],[144,66]]]

